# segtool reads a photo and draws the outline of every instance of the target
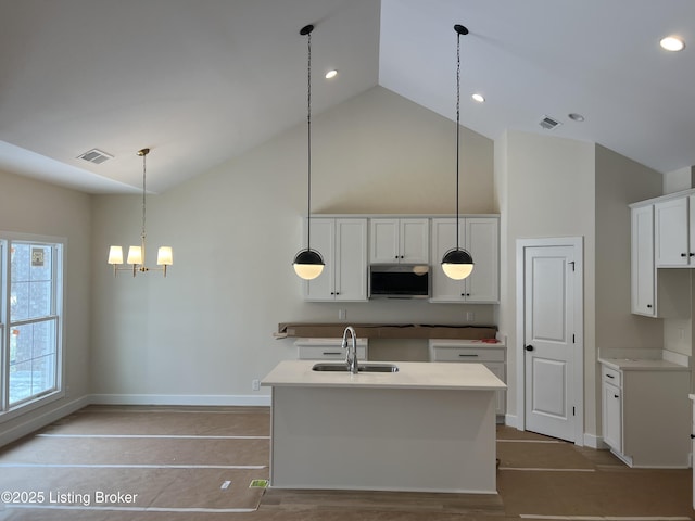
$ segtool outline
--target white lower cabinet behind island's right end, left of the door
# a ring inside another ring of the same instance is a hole
[[[429,341],[430,361],[455,361],[459,364],[482,364],[500,380],[506,383],[506,346],[503,342],[485,343],[480,340],[431,339]],[[504,422],[507,409],[506,391],[496,391],[495,415],[497,422]]]

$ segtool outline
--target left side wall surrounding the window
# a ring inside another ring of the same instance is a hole
[[[67,238],[65,249],[65,357],[67,396],[0,423],[0,445],[80,407],[90,392],[90,196],[0,171],[0,229]]]

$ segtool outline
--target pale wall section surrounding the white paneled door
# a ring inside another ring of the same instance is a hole
[[[500,329],[507,334],[507,411],[517,415],[516,243],[518,239],[584,238],[584,343],[594,352],[594,145],[509,130],[495,142],[495,177],[503,215],[505,287]],[[587,313],[590,312],[590,313]],[[587,402],[586,416],[595,415]]]

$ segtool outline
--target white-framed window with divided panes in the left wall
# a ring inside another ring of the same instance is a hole
[[[0,232],[0,417],[59,397],[63,242]]]

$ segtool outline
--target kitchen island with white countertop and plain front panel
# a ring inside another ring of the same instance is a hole
[[[271,387],[270,486],[496,493],[495,392],[481,364],[314,371],[286,360]]]

